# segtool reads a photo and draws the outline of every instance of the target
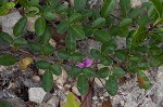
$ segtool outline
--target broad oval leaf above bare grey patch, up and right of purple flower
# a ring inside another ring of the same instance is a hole
[[[101,43],[104,43],[109,40],[111,40],[111,36],[105,30],[95,30],[93,37],[97,41],[100,41]]]

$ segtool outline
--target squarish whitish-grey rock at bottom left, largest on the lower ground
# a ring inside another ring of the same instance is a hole
[[[30,88],[28,90],[29,101],[38,104],[42,103],[46,92],[42,88]]]

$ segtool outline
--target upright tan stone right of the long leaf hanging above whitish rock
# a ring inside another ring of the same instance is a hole
[[[67,79],[67,73],[64,69],[62,69],[62,73],[61,76],[59,76],[55,83],[59,85],[63,85],[66,82],[66,79]]]

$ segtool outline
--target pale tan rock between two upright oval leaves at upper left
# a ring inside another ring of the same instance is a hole
[[[35,31],[35,22],[38,17],[40,16],[36,15],[35,17],[27,17],[27,30]]]

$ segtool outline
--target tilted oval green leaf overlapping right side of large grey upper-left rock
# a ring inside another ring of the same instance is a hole
[[[20,35],[22,35],[25,30],[27,24],[27,17],[24,16],[22,17],[14,26],[13,28],[13,34],[15,37],[18,37]]]

